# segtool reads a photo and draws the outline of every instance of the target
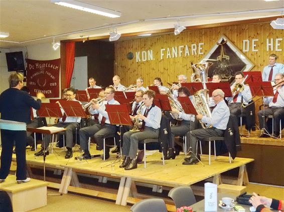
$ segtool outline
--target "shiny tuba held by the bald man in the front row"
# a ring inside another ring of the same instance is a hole
[[[193,102],[194,102],[195,109],[196,109],[197,113],[202,114],[202,115],[207,116],[207,117],[212,117],[211,110],[210,110],[209,104],[208,104],[208,98],[207,98],[208,92],[209,92],[208,89],[198,90],[193,95]],[[201,120],[199,120],[199,121],[200,121],[201,126],[203,128],[212,127],[212,125],[206,126],[206,124],[203,123]]]

